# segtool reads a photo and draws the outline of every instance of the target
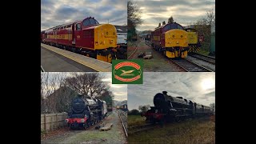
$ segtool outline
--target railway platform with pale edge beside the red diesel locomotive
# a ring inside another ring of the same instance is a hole
[[[45,72],[111,72],[112,64],[41,43]]]

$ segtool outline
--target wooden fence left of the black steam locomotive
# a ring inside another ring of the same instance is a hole
[[[41,114],[41,131],[49,131],[65,126],[67,113]]]

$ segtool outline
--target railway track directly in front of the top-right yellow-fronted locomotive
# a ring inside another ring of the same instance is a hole
[[[170,61],[174,62],[177,66],[181,67],[187,72],[212,72],[212,70],[209,70],[206,67],[200,66],[187,59],[170,59]]]

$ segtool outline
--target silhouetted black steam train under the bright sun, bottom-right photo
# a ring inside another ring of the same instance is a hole
[[[154,96],[154,106],[142,116],[147,122],[179,122],[185,118],[195,118],[214,114],[210,106],[203,106],[182,97],[172,97],[166,91]]]

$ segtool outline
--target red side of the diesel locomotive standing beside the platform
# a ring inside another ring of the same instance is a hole
[[[88,24],[87,21],[92,23]],[[89,17],[82,21],[56,26],[56,28],[46,30],[46,42],[94,50],[94,28],[98,25],[99,23],[94,18]]]

